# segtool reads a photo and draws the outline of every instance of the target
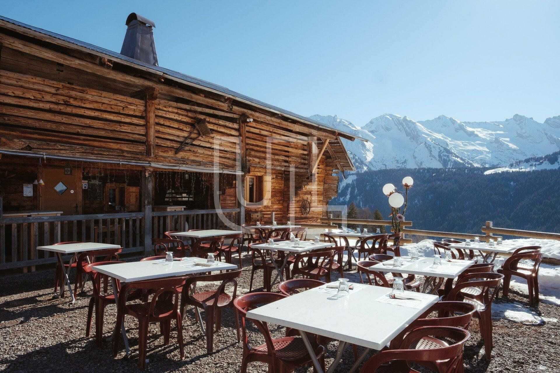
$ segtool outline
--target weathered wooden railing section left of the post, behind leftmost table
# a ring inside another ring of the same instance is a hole
[[[103,242],[124,252],[144,250],[143,213],[35,216],[0,219],[0,270],[54,263],[38,246],[58,242]]]

